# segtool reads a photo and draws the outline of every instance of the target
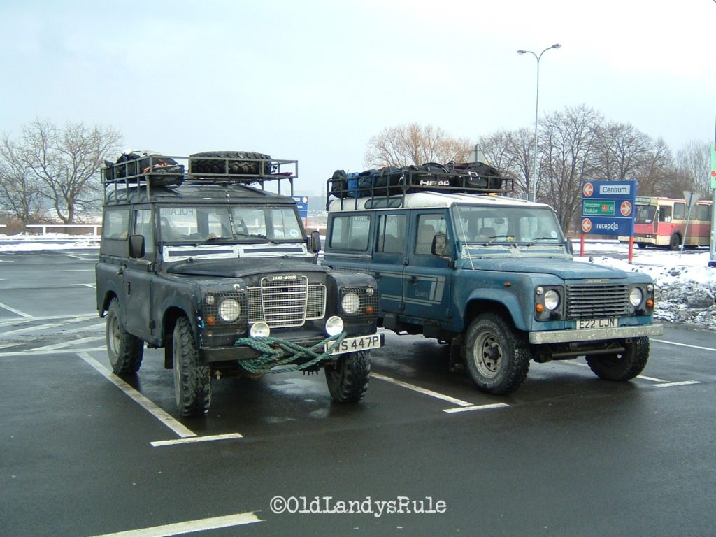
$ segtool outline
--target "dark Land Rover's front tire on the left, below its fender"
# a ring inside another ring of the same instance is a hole
[[[211,405],[211,371],[201,364],[191,326],[180,317],[174,326],[172,357],[174,362],[174,395],[184,417],[203,416]]]

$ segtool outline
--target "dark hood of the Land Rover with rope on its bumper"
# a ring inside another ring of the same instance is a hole
[[[223,278],[245,278],[276,273],[319,273],[328,269],[313,263],[310,258],[234,258],[234,259],[187,259],[171,263],[168,274],[185,276],[216,276]]]

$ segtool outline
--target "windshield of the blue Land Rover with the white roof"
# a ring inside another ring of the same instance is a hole
[[[463,243],[554,244],[564,241],[549,208],[456,205],[455,231]]]

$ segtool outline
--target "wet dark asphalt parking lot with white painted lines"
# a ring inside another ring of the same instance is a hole
[[[508,397],[386,333],[358,405],[323,374],[117,377],[96,250],[0,253],[1,536],[713,536],[716,337],[667,325],[641,377],[532,364]],[[342,512],[352,511],[352,512]]]

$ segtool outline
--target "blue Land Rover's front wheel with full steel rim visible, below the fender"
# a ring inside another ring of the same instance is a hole
[[[526,337],[499,315],[477,316],[465,332],[465,367],[483,392],[506,395],[517,390],[531,357]]]

